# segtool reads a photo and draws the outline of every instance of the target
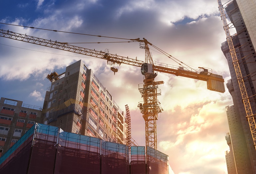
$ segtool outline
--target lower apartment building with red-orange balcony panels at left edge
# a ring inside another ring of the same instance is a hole
[[[0,156],[16,143],[35,123],[42,123],[39,106],[1,97],[0,99]]]

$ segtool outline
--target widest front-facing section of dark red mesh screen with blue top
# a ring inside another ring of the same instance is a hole
[[[62,132],[54,174],[100,174],[100,139]]]

